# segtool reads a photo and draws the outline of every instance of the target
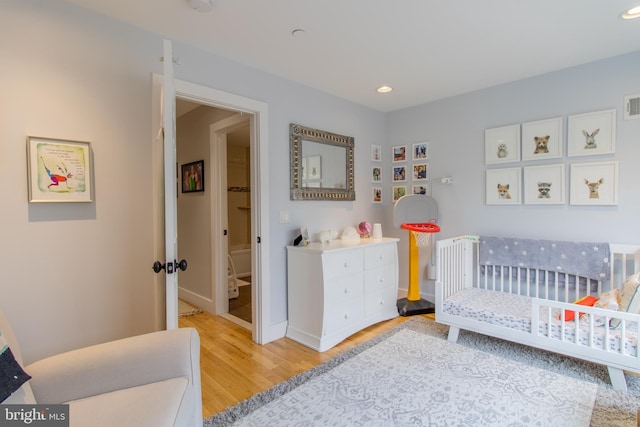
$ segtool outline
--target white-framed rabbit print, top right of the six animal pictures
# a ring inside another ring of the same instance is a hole
[[[594,156],[616,152],[616,110],[569,116],[567,156]]]

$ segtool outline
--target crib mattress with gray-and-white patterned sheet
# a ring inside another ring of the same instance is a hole
[[[442,304],[445,313],[478,320],[495,326],[531,332],[531,298],[486,289],[468,288],[446,298]],[[559,310],[552,310],[551,322],[547,322],[548,307],[540,307],[538,332],[547,336],[548,328],[551,328],[550,338],[562,339],[562,321],[559,320]],[[576,334],[576,322],[564,322],[564,340],[574,342]],[[579,323],[578,342],[589,346],[588,322]],[[635,330],[634,330],[635,329]],[[482,332],[482,331],[480,331]],[[594,328],[594,347],[604,349],[605,327]],[[621,332],[609,329],[609,350],[620,352]],[[624,340],[624,353],[636,356],[638,351],[637,325],[628,325]]]

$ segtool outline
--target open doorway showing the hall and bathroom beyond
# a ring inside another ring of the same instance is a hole
[[[252,114],[176,100],[178,247],[190,260],[178,290],[179,315],[208,311],[250,330],[252,119]],[[203,185],[184,191],[194,163],[203,165]]]

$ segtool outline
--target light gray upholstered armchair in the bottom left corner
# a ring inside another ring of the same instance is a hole
[[[1,312],[0,333],[22,365]],[[202,426],[200,338],[193,328],[73,350],[24,371],[31,380],[1,404],[67,403],[70,425],[79,427]]]

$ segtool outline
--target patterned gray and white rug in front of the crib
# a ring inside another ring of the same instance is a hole
[[[635,426],[640,378],[414,317],[205,426]]]

